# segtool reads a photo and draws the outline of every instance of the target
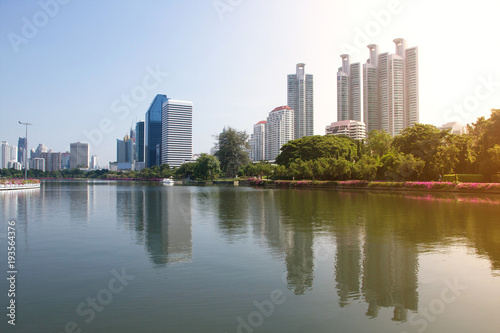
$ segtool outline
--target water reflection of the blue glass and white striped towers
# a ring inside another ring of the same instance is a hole
[[[191,192],[158,187],[144,196],[146,248],[156,265],[191,261]]]

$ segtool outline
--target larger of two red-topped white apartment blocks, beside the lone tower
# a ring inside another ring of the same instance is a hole
[[[289,106],[280,106],[269,112],[266,123],[266,160],[275,160],[281,146],[294,139],[295,112]]]

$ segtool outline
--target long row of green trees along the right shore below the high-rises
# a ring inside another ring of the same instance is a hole
[[[455,135],[416,124],[392,138],[372,131],[364,142],[346,136],[310,136],[283,145],[277,165],[259,163],[240,175],[274,179],[439,180],[445,174],[500,172],[500,110]]]

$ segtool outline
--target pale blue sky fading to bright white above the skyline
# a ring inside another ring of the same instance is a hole
[[[193,102],[193,152],[225,126],[253,131],[286,105],[297,63],[314,75],[314,132],[336,121],[340,55],[418,46],[420,122],[500,108],[498,0],[0,0],[0,140],[100,166],[156,94]]]

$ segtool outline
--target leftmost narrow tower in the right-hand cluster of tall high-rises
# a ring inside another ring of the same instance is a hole
[[[337,72],[337,121],[361,121],[361,66],[350,64],[342,54],[342,67]]]

